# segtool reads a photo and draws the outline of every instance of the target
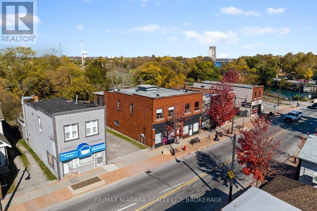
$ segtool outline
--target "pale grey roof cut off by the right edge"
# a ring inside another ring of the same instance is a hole
[[[317,135],[310,134],[297,156],[299,159],[317,164]]]

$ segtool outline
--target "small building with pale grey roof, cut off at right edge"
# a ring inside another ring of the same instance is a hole
[[[317,135],[310,134],[298,154],[298,181],[317,187]]]

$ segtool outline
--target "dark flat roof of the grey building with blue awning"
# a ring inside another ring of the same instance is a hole
[[[90,106],[91,104],[82,103],[79,101],[76,103],[76,100],[69,100],[64,97],[59,97],[55,99],[43,99],[36,102],[24,103],[31,105],[32,107],[41,110],[48,115],[96,108]]]

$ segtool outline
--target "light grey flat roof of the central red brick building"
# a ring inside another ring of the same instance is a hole
[[[139,90],[139,87],[149,89],[148,92]],[[155,89],[156,88],[156,89]],[[153,85],[139,85],[138,87],[133,87],[129,89],[115,89],[107,91],[111,93],[122,93],[126,95],[139,95],[151,98],[168,97],[168,96],[179,96],[179,95],[190,95],[194,93],[201,93],[199,91],[189,91],[189,90],[176,90],[168,88],[158,88]]]

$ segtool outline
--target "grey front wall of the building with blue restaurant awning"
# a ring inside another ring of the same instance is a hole
[[[81,143],[87,143],[90,146],[96,145],[105,141],[105,107],[100,107],[98,110],[86,110],[78,113],[72,113],[67,115],[55,116],[56,127],[56,140],[58,142],[58,153],[66,153],[69,151],[77,150],[77,147]],[[98,120],[98,134],[86,136],[86,122]],[[78,138],[65,141],[64,126],[78,124]],[[102,151],[103,166],[106,165],[106,154]],[[95,159],[95,157],[94,157]],[[95,168],[94,162],[87,163],[85,165],[76,167],[74,170],[78,173],[83,173]],[[59,170],[61,172],[61,179],[63,179],[63,165],[60,163]]]

